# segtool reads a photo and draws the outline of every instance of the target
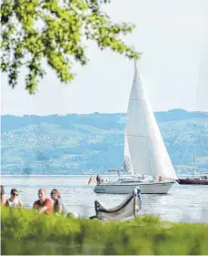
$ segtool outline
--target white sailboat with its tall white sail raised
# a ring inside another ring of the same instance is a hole
[[[95,193],[128,194],[139,186],[143,194],[166,194],[177,176],[163,143],[136,63],[124,136],[124,169],[111,169],[128,178],[100,182]],[[153,177],[160,177],[159,180]]]

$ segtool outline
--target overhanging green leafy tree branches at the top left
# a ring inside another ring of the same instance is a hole
[[[1,69],[15,87],[20,68],[27,67],[25,84],[31,94],[45,75],[44,59],[62,82],[72,81],[74,61],[87,63],[86,40],[102,50],[139,57],[121,39],[134,25],[113,23],[98,0],[2,0],[1,24]]]

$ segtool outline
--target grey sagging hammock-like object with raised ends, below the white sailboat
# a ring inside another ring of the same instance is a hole
[[[94,201],[96,218],[99,220],[124,220],[136,216],[142,208],[141,191],[136,187],[117,207],[106,209],[99,201]]]

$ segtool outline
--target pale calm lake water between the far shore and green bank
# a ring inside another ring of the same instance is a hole
[[[7,195],[12,188],[21,190],[20,199],[27,208],[31,208],[37,200],[37,189],[45,188],[48,197],[51,189],[60,189],[67,210],[83,217],[94,215],[94,200],[110,208],[126,197],[95,194],[94,183],[87,185],[88,176],[2,176],[1,179]],[[142,198],[141,215],[153,214],[161,220],[208,223],[208,186],[176,183],[166,195],[142,195]]]

